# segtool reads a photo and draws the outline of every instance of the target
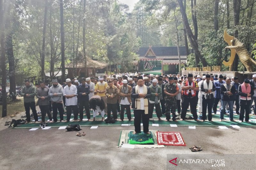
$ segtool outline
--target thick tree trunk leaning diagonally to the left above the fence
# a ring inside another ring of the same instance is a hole
[[[198,50],[198,44],[197,44],[197,41],[194,40],[195,36],[192,33],[192,30],[189,26],[188,17],[186,15],[186,11],[184,9],[183,2],[182,2],[182,0],[179,0],[178,2],[179,2],[179,5],[180,5],[180,12],[181,12],[181,16],[182,16],[182,19],[183,19],[183,24],[185,26],[185,29],[186,29],[186,32],[187,32],[187,35],[188,35],[188,40],[189,40],[192,48],[195,50],[195,55],[197,55],[200,58],[203,66],[206,67],[208,65],[208,63],[206,62],[205,58],[201,55],[201,52]]]

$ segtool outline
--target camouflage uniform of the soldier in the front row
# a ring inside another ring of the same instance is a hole
[[[164,86],[164,90],[166,90],[166,92],[174,94],[177,92],[177,85],[175,83],[167,83]],[[166,116],[166,120],[170,120],[170,110],[172,113],[172,120],[176,120],[176,108],[177,108],[177,101],[176,101],[176,96],[174,97],[170,97],[168,95],[165,96],[165,116]]]

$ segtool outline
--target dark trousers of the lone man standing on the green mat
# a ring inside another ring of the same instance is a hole
[[[145,114],[145,110],[133,110],[134,113],[134,127],[135,132],[140,133],[140,122],[142,117],[142,123],[143,123],[143,132],[147,133],[148,126],[149,126],[149,115]]]

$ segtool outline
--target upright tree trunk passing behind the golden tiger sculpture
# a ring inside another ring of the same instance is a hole
[[[234,37],[238,37],[238,30],[236,26],[239,25],[239,16],[240,16],[240,9],[241,9],[241,0],[233,0],[233,11],[234,11]],[[234,63],[233,63],[233,71],[237,71],[238,66],[238,55],[235,55]]]

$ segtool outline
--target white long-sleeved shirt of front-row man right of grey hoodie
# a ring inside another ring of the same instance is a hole
[[[70,87],[68,87],[68,85],[66,85],[63,89],[63,96],[66,95],[72,95],[75,94],[77,96],[77,89],[75,85],[71,85]],[[72,97],[67,99],[66,98],[66,106],[74,106],[77,105],[77,97]]]

